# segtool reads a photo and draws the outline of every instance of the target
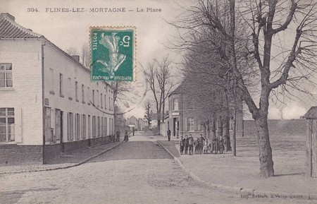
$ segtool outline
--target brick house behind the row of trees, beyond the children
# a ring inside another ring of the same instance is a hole
[[[168,95],[168,118],[166,126],[170,128],[171,136],[185,136],[191,134],[198,137],[204,134],[204,122],[199,117],[197,109],[192,98],[189,98],[184,84],[170,92]],[[242,104],[241,104],[242,107]],[[230,116],[229,130],[232,131],[233,116]],[[243,134],[243,116],[242,112],[237,113],[236,123],[237,136]]]

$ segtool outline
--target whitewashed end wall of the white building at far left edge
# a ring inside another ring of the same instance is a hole
[[[42,48],[39,40],[0,40],[0,62],[12,63],[13,88],[0,88],[0,107],[15,111],[15,142],[42,145]],[[0,145],[7,145],[3,143]]]

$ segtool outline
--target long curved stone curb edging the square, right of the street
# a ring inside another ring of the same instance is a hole
[[[233,187],[233,186],[223,186],[219,184],[211,184],[209,182],[201,180],[198,176],[193,174],[192,172],[189,172],[188,169],[186,169],[183,165],[180,159],[178,157],[175,157],[170,150],[168,150],[164,145],[162,145],[159,140],[156,140],[161,147],[168,152],[170,156],[173,157],[173,159],[178,162],[180,167],[189,174],[192,179],[195,181],[198,181],[200,184],[204,184],[206,186],[209,186],[209,188],[212,188],[214,190],[220,191],[222,193],[235,193],[239,194],[240,196],[250,196],[252,198],[292,198],[292,199],[302,199],[302,200],[317,200],[317,194],[304,194],[304,193],[277,193],[277,192],[269,192],[269,191],[257,191],[251,188],[239,188],[239,187]]]

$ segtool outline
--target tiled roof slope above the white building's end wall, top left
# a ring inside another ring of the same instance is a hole
[[[15,23],[15,18],[9,13],[1,13],[0,15],[0,37],[1,38],[41,38],[39,35],[30,29],[23,28],[18,23]]]

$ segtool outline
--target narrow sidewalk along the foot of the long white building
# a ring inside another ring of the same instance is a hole
[[[51,162],[50,164],[0,166],[0,174],[11,174],[11,173],[20,173],[20,172],[40,172],[40,171],[66,169],[69,167],[75,167],[87,162],[88,160],[91,160],[97,155],[101,155],[104,152],[112,148],[115,148],[120,143],[122,143],[122,140],[116,143],[107,143],[105,145],[98,145],[92,148],[68,152],[67,155],[71,155],[71,157],[58,157],[56,158],[56,160],[54,160],[54,162]]]

